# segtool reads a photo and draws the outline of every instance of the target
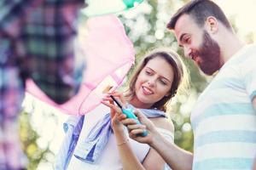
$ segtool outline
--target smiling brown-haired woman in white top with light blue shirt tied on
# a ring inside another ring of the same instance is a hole
[[[70,138],[79,138],[79,140],[71,147],[70,145],[74,142],[69,143],[68,154],[66,157],[64,156],[66,160],[64,168],[163,169],[165,161],[154,149],[151,149],[148,144],[140,144],[129,139],[127,130],[117,118],[119,115],[117,113],[120,110],[113,105],[113,100],[109,95],[119,99],[124,107],[137,108],[143,112],[154,122],[158,131],[166,139],[173,141],[174,127],[172,122],[168,122],[166,119],[166,104],[177,93],[183,75],[183,62],[176,53],[166,49],[157,49],[146,55],[131,78],[129,89],[125,95],[123,96],[119,92],[107,94],[102,99],[104,105],[100,105],[94,111],[109,112],[109,109],[106,110],[106,108],[110,107],[110,114],[105,114],[101,120],[98,120],[96,114],[89,113],[84,116],[83,120],[79,119],[73,123],[74,128]],[[91,123],[93,121],[95,123]],[[78,129],[81,126],[77,125],[79,122],[82,124],[84,122],[85,125],[80,132]],[[57,156],[55,166],[57,169],[61,169],[59,161],[63,158],[60,158],[60,155]],[[68,156],[71,157],[70,161]]]

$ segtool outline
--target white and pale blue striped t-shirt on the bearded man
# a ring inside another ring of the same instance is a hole
[[[224,64],[192,111],[193,169],[253,168],[255,96],[256,45],[247,45]]]

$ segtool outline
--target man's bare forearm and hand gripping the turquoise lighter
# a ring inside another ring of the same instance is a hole
[[[153,122],[151,122],[146,116],[139,111],[135,111],[137,117],[143,125],[138,125],[132,119],[123,120],[123,124],[129,128],[131,139],[137,140],[137,142],[149,144],[154,150],[156,150],[160,156],[166,161],[166,163],[173,170],[187,170],[192,169],[193,155],[177,147],[176,144],[172,144],[166,140],[155,128]],[[142,133],[147,127],[148,135],[142,137],[137,135]]]

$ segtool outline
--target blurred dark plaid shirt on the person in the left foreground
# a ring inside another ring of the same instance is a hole
[[[82,4],[84,0],[0,2],[1,170],[26,166],[20,159],[17,123],[26,78],[60,104],[78,91],[84,68],[74,58],[73,39]]]

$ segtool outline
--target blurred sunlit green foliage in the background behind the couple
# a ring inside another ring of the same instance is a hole
[[[137,61],[149,49],[156,47],[170,47],[183,56],[182,50],[177,46],[174,35],[171,31],[167,31],[166,23],[177,8],[186,2],[188,0],[148,0],[137,8],[118,15],[125,26],[127,36],[130,37],[136,48]],[[249,38],[250,36],[247,37],[247,39]],[[211,80],[211,77],[201,75],[193,61],[184,57],[183,61],[189,70],[189,90],[187,93],[177,94],[172,99],[168,115],[175,125],[175,143],[183,149],[193,152],[193,133],[189,122],[190,111],[201,91],[207,86],[207,82]],[[52,144],[51,140],[47,144],[43,144],[44,147],[38,144],[42,134],[40,134],[40,130],[35,129],[36,125],[32,123],[32,115],[38,114],[37,112],[36,105],[34,105],[20,114],[20,138],[23,143],[23,149],[29,159],[28,169],[39,169],[40,166],[38,165],[42,164],[42,162],[48,162],[52,166],[55,155],[51,147],[59,147],[58,144]],[[49,114],[44,115],[45,120],[53,120],[51,123],[61,129],[62,121],[58,119],[54,111],[43,112],[49,112]],[[44,126],[49,126],[47,121],[43,124]],[[51,133],[52,138],[56,138],[56,133],[52,133],[52,131],[54,129],[49,129],[48,133]]]

